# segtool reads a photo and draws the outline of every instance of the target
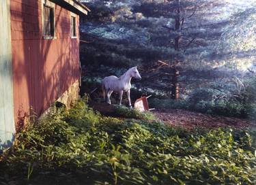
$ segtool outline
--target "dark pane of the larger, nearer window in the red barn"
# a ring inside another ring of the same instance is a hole
[[[54,8],[44,5],[44,27],[43,35],[44,37],[54,37],[55,35],[55,26],[54,26]]]

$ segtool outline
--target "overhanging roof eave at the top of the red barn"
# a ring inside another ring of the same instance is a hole
[[[61,7],[65,7],[67,10],[74,12],[76,14],[87,15],[88,12],[91,12],[88,7],[83,3],[80,3],[77,0],[51,0],[54,3],[59,4]]]

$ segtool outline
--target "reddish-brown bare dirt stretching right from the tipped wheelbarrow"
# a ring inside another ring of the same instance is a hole
[[[153,112],[156,118],[162,120],[166,124],[177,127],[185,127],[193,129],[194,127],[236,127],[245,128],[253,126],[253,123],[240,119],[225,116],[210,116],[198,112],[190,112],[186,110],[156,110]]]

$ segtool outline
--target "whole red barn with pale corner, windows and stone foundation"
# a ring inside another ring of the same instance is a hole
[[[0,2],[0,148],[31,110],[79,97],[79,16],[76,0]]]

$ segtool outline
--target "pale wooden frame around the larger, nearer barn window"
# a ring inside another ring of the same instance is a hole
[[[49,7],[53,10],[53,35],[44,35],[44,7]],[[43,0],[42,1],[42,38],[43,39],[56,39],[56,27],[55,27],[55,3]]]

